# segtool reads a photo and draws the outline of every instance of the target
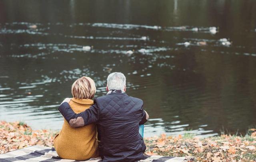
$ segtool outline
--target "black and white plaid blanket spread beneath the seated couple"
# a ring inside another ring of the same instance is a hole
[[[186,162],[193,161],[193,157],[148,156],[139,162]],[[45,146],[30,146],[0,155],[0,162],[82,162],[61,159],[54,148]],[[83,162],[101,162],[101,158],[91,158]]]

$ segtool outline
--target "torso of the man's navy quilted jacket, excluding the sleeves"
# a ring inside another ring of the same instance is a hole
[[[139,134],[143,102],[116,92],[96,98],[99,108],[99,152],[104,162],[136,161],[144,158],[146,146]]]

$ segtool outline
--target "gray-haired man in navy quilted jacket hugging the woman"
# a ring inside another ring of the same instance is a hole
[[[70,126],[81,127],[98,124],[101,134],[99,152],[103,162],[134,162],[144,159],[146,146],[139,134],[139,124],[148,120],[143,110],[143,101],[128,96],[126,78],[120,72],[109,74],[106,96],[94,99],[94,104],[84,112],[75,114],[68,99],[59,107],[59,111]]]

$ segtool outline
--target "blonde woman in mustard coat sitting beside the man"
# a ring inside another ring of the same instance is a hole
[[[96,87],[94,81],[86,76],[72,85],[73,98],[69,102],[75,113],[84,112],[92,104]],[[54,147],[60,158],[86,160],[98,157],[97,127],[90,124],[80,128],[71,127],[64,119],[60,133],[54,139]]]

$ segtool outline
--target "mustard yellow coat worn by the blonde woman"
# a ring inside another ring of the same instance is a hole
[[[72,98],[69,104],[72,110],[77,114],[88,109],[93,104],[93,100]],[[99,156],[96,138],[96,124],[73,128],[64,119],[62,129],[54,139],[54,148],[60,158],[87,160]]]

